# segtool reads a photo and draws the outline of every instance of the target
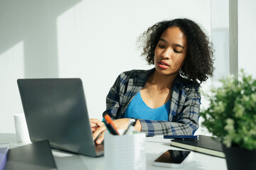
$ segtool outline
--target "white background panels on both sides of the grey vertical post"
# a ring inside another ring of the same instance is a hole
[[[229,4],[233,0],[213,0],[212,8],[212,41],[215,48],[215,72],[213,84],[218,79],[230,74],[229,64]],[[238,71],[245,72],[256,78],[256,1],[238,0]]]

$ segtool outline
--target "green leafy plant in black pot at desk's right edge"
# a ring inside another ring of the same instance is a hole
[[[210,103],[202,125],[221,138],[228,169],[256,169],[256,80],[241,70],[220,82],[203,93]]]

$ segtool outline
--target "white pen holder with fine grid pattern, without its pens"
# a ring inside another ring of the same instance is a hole
[[[105,132],[105,169],[145,170],[145,133],[111,135]]]

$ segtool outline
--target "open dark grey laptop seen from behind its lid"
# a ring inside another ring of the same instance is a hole
[[[18,79],[31,142],[49,140],[50,147],[90,157],[95,148],[81,79]]]

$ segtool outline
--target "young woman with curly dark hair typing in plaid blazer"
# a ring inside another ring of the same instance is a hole
[[[144,32],[142,55],[154,69],[132,70],[117,77],[107,95],[107,113],[117,129],[136,118],[146,135],[193,135],[198,129],[199,87],[213,74],[213,49],[203,30],[186,18],[161,21]],[[104,123],[90,120],[96,143]]]

